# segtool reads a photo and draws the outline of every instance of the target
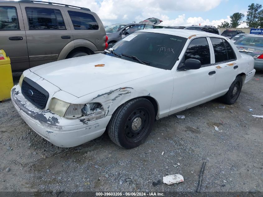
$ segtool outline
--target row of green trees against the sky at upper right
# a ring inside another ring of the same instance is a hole
[[[236,12],[230,16],[230,23],[224,21],[218,28],[237,28],[242,23],[246,23],[248,27],[263,28],[263,9],[262,5],[258,3],[251,3],[248,6],[246,21],[243,21],[245,15],[240,12]]]

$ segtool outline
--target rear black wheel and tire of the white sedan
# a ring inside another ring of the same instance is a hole
[[[235,81],[229,87],[228,92],[224,96],[222,96],[221,98],[222,102],[228,105],[234,104],[240,95],[242,84],[243,84],[242,77],[237,76]]]

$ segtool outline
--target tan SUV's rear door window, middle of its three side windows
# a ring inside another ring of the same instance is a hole
[[[65,24],[59,10],[26,7],[26,16],[30,30],[65,29]]]

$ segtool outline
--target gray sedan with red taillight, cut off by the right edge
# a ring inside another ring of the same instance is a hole
[[[254,68],[263,70],[263,35],[245,35],[235,42],[240,53],[255,59]]]

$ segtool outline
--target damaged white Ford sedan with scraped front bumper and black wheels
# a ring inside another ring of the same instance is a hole
[[[254,74],[254,59],[224,36],[152,29],[103,54],[30,68],[11,96],[26,123],[56,146],[77,146],[107,130],[114,143],[134,148],[155,120],[218,97],[235,103]]]

